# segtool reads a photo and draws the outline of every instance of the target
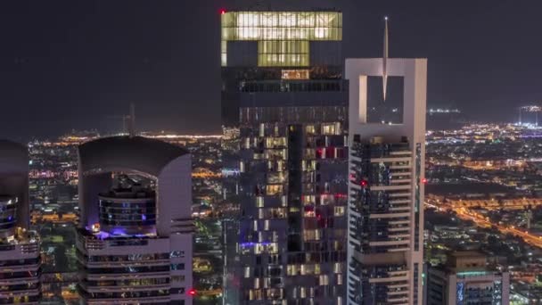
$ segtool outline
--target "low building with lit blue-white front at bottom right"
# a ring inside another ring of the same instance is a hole
[[[488,268],[477,251],[452,253],[446,265],[428,268],[426,282],[427,305],[510,303],[509,273]]]

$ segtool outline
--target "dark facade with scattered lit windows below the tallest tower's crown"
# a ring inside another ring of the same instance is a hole
[[[335,120],[243,120],[241,154],[250,157],[242,158],[240,303],[341,300],[348,153],[341,117]]]

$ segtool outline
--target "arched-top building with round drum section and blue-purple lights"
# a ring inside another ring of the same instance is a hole
[[[78,148],[78,291],[86,304],[192,304],[191,157],[140,136]]]

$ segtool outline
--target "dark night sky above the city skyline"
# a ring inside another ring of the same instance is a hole
[[[348,57],[428,57],[429,105],[512,120],[542,100],[540,1],[101,0],[0,3],[0,137],[119,129],[218,133],[219,9],[337,7]],[[287,4],[284,6],[283,4]]]

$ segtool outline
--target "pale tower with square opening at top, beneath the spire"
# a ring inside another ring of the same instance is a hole
[[[349,304],[421,304],[425,59],[347,59]],[[385,72],[384,72],[385,71]],[[367,120],[367,78],[403,77],[400,124]]]

